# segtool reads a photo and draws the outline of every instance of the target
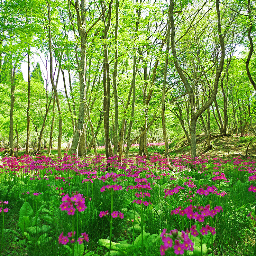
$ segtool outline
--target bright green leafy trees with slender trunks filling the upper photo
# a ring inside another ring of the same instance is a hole
[[[120,161],[184,135],[194,158],[196,134],[210,150],[253,132],[255,16],[250,0],[2,1],[1,147]]]

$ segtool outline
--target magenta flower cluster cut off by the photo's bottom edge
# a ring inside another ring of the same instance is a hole
[[[183,230],[181,235],[178,234],[176,229],[171,230],[170,233],[166,233],[166,229],[163,230],[162,234],[163,245],[160,246],[160,254],[165,255],[166,250],[173,246],[174,253],[179,255],[183,254],[184,250],[194,250],[192,240],[189,238],[189,235],[186,234]],[[173,245],[174,241],[174,245]]]

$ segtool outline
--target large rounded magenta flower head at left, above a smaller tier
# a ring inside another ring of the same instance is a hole
[[[64,195],[61,201],[63,203],[60,205],[60,208],[62,211],[67,211],[68,215],[74,215],[76,209],[77,211],[82,212],[87,208],[84,204],[85,199],[83,195],[78,192],[72,193],[71,197],[68,194]],[[76,209],[74,208],[74,205]]]

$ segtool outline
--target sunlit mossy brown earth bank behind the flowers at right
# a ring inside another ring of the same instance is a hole
[[[234,135],[223,136],[219,134],[212,134],[211,143],[213,148],[211,150],[207,149],[205,134],[200,134],[196,136],[196,154],[205,156],[219,156],[222,158],[230,157],[251,157],[256,159],[256,139],[254,135],[248,135],[245,137],[236,137]],[[185,136],[179,139],[175,139],[171,142],[169,155],[190,155],[190,145]]]

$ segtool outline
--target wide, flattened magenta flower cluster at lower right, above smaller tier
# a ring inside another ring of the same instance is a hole
[[[171,215],[179,214],[181,216],[184,216],[186,214],[189,219],[195,219],[199,222],[203,222],[205,217],[211,216],[213,218],[220,211],[223,211],[221,206],[216,206],[214,207],[214,209],[210,209],[209,204],[205,207],[190,205],[184,210],[181,206],[176,208],[175,210],[172,210]]]

